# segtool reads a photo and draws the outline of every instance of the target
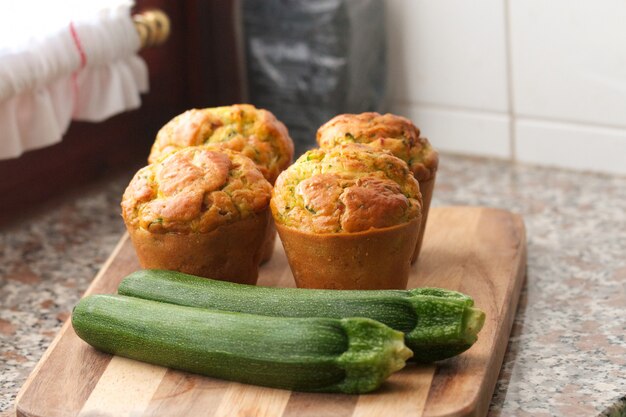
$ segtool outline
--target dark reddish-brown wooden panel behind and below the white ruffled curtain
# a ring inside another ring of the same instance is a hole
[[[0,160],[0,222],[114,170],[145,165],[159,128],[186,109],[242,100],[236,2],[138,0],[133,12],[150,8],[169,16],[171,32],[163,45],[141,51],[150,74],[141,107],[102,123],[73,122],[60,143]]]

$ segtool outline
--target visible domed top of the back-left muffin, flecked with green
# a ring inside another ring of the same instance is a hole
[[[188,146],[221,143],[252,159],[274,183],[293,159],[293,141],[272,113],[250,104],[192,109],[170,120],[157,133],[148,163]]]

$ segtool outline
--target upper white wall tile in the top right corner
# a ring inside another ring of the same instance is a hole
[[[515,112],[626,127],[626,2],[510,0]]]

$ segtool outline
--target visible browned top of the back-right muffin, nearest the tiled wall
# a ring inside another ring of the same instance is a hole
[[[418,181],[435,175],[439,161],[437,151],[428,139],[420,137],[419,129],[409,119],[393,114],[340,114],[318,129],[317,143],[325,149],[342,143],[386,149],[406,162]]]

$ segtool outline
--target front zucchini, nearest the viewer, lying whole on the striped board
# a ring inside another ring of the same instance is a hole
[[[284,318],[91,295],[76,334],[103,352],[298,391],[372,391],[403,368],[403,334],[365,318]]]

